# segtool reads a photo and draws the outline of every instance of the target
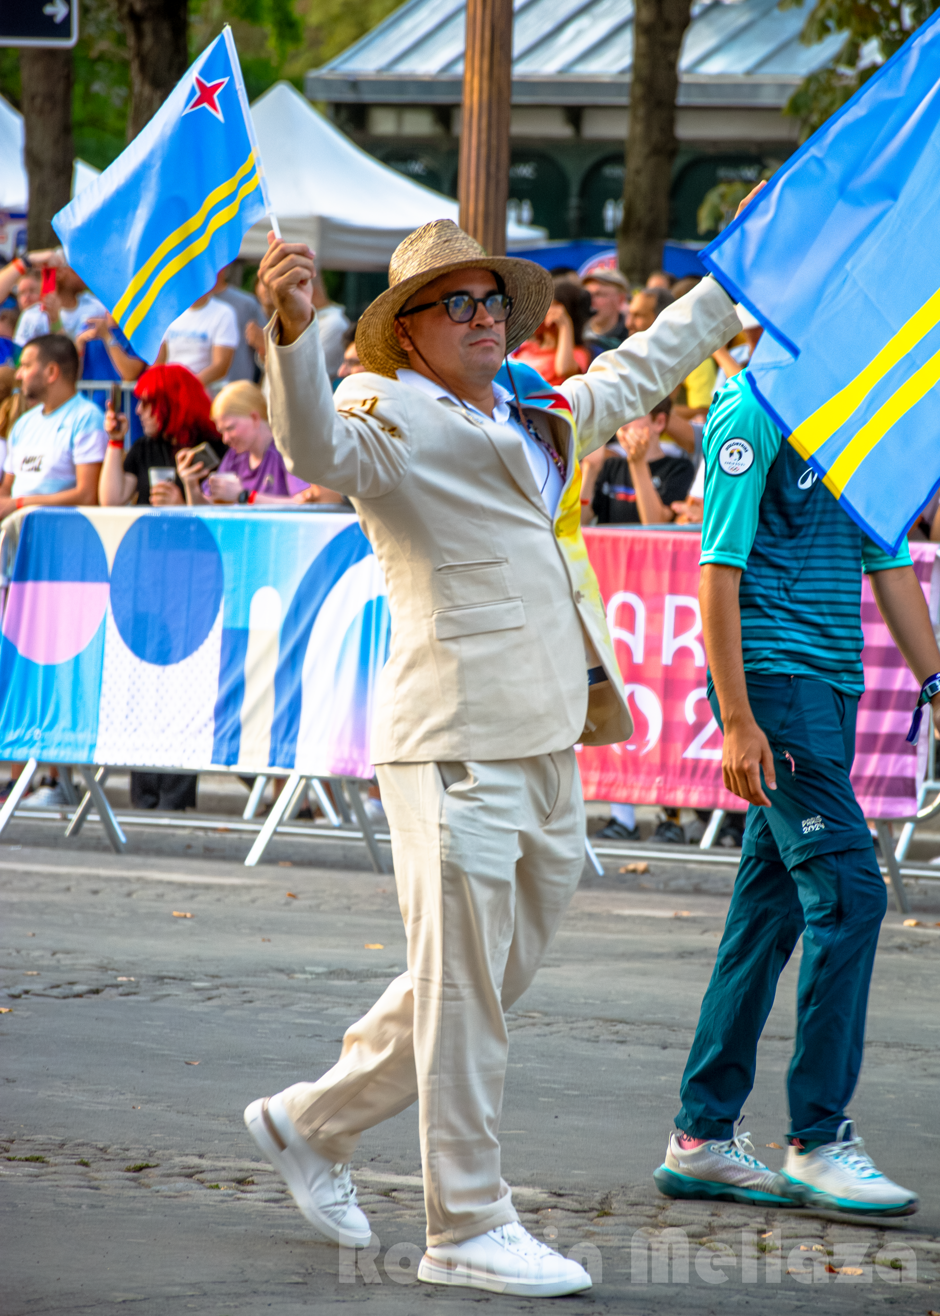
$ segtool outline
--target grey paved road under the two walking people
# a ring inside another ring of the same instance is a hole
[[[332,1312],[350,1300],[377,1316],[532,1308],[412,1282],[423,1242],[413,1111],[362,1141],[355,1173],[375,1246],[354,1270],[316,1238],[245,1133],[244,1105],[328,1067],[345,1026],[404,965],[392,879],[361,871],[362,851],[278,842],[273,854],[290,859],[248,873],[224,836],[138,833],[121,858],[92,829],[66,850],[51,826],[16,821],[4,841],[3,1316]],[[345,867],[311,867],[311,857]],[[729,883],[728,871],[678,862],[586,875],[512,1012],[504,1173],[525,1224],[581,1249],[598,1280],[562,1309],[939,1309],[932,887],[915,895],[922,926],[887,916],[853,1108],[875,1159],[922,1194],[920,1215],[872,1227],[671,1205],[652,1184]],[[774,1165],[783,1153],[766,1145],[786,1129],[795,970],[745,1120]]]

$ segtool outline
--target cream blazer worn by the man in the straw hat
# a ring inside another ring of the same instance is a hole
[[[740,330],[711,279],[652,329],[524,407],[567,462],[549,516],[521,441],[383,375],[330,391],[316,322],[288,346],[267,326],[271,429],[288,470],[346,494],[384,572],[391,651],[375,763],[528,758],[633,724],[581,533],[578,457],[644,416]],[[603,665],[610,682],[588,686]]]

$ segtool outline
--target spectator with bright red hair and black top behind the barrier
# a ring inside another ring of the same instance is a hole
[[[97,496],[101,507],[182,503],[183,490],[176,478],[150,484],[150,471],[172,470],[180,447],[208,442],[219,454],[225,445],[212,422],[209,395],[186,366],[150,366],[134,388],[137,415],[144,437],[124,451],[128,417],[112,411],[104,417],[108,451],[101,466]]]

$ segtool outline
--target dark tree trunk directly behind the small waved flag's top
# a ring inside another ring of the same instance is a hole
[[[132,141],[190,67],[188,0],[118,0],[130,58]]]

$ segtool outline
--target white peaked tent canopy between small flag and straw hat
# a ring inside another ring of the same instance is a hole
[[[429,220],[457,220],[457,201],[382,164],[334,128],[290,83],[251,107],[271,205],[288,242],[307,242],[326,270],[386,270],[399,242]],[[269,225],[245,234],[241,255],[267,250]],[[545,230],[511,224],[512,246]]]

